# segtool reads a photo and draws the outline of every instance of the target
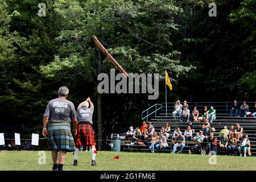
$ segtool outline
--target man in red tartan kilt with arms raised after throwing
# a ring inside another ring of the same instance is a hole
[[[89,107],[90,105],[90,107]],[[92,152],[92,166],[96,166],[96,137],[92,127],[92,116],[93,116],[93,103],[90,101],[90,97],[86,101],[82,102],[77,107],[77,118],[78,118],[78,127],[77,127],[77,136],[76,136],[76,151],[75,151],[75,160],[74,166],[77,166],[77,159],[79,156],[80,146],[91,147]]]

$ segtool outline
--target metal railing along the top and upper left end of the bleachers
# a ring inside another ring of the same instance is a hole
[[[242,105],[243,101],[238,101],[237,102],[239,106]],[[172,114],[172,111],[174,111],[174,105],[176,102],[167,102],[167,114],[170,115]],[[181,102],[183,105],[183,102]],[[197,110],[199,110],[199,113],[202,113],[204,111],[204,106],[208,106],[208,109],[210,109],[210,106],[214,106],[214,109],[216,109],[216,113],[219,114],[229,114],[230,109],[233,105],[233,102],[187,102],[189,106],[189,110],[193,110],[194,107],[197,107]],[[256,111],[255,108],[255,102],[246,102],[246,104],[249,106],[249,111],[251,113],[254,113]],[[155,104],[148,109],[144,110],[142,112],[142,119],[145,119],[148,121],[148,117],[152,114],[155,114],[157,111],[161,111],[163,113],[166,113],[166,103],[163,102],[161,104]]]

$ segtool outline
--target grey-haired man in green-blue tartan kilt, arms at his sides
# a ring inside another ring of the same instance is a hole
[[[67,100],[69,90],[61,86],[59,98],[49,101],[43,118],[43,136],[48,135],[49,150],[52,151],[53,171],[62,171],[66,152],[75,151],[75,142],[71,133],[77,134],[77,113],[75,106]],[[47,130],[48,123],[48,130]]]

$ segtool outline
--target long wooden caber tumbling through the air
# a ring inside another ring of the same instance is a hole
[[[121,67],[121,65],[119,65],[117,63],[117,61],[114,59],[114,57],[112,57],[112,55],[110,55],[110,53],[108,52],[107,49],[105,49],[104,46],[102,46],[102,44],[100,43],[100,41],[98,41],[98,39],[96,38],[95,35],[92,35],[92,38],[94,40],[94,42],[96,43],[96,45],[101,49],[101,51],[104,53],[104,55],[106,57],[108,57],[108,59],[110,60],[110,62],[112,64],[114,64],[114,66],[119,70],[119,72],[123,73],[123,75],[127,78],[129,77],[128,73],[126,73],[126,71]]]

